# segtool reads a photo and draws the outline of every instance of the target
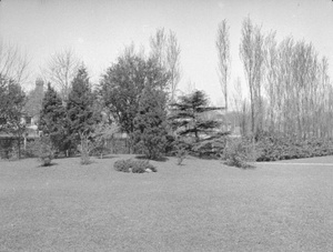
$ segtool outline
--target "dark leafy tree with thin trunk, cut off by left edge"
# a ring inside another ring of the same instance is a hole
[[[21,141],[26,132],[26,94],[14,80],[0,74],[0,131],[12,134],[18,140],[18,155],[21,158]]]

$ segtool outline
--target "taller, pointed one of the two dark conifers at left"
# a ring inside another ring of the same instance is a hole
[[[83,135],[93,131],[98,121],[93,109],[93,94],[84,67],[78,70],[72,81],[72,90],[67,103],[69,132],[74,144],[79,144]]]

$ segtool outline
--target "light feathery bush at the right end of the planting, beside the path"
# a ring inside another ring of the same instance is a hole
[[[255,161],[255,147],[248,139],[229,139],[222,159],[231,167],[251,168],[248,162]]]

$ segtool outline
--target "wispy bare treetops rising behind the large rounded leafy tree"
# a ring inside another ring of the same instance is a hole
[[[172,30],[167,34],[164,28],[157,30],[150,38],[151,54],[159,64],[170,74],[169,90],[170,100],[174,102],[176,88],[181,78],[180,53],[181,48]]]

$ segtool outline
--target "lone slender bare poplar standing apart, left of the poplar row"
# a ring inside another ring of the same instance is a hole
[[[222,88],[222,94],[224,99],[225,110],[228,111],[228,81],[230,78],[230,39],[229,39],[229,26],[224,19],[219,23],[218,37],[216,37],[216,49],[219,58],[219,79]]]

